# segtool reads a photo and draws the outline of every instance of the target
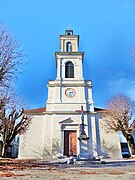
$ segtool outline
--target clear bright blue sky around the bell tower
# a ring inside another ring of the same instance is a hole
[[[0,22],[16,36],[27,65],[16,89],[32,108],[43,107],[56,77],[59,35],[72,28],[85,52],[84,77],[93,82],[95,106],[122,92],[135,100],[134,0],[1,0]]]

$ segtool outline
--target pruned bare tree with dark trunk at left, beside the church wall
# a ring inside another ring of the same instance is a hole
[[[29,127],[30,115],[24,109],[17,110],[14,103],[9,107],[10,97],[2,98],[0,102],[0,134],[3,139],[2,156],[7,156],[10,143],[17,134],[23,134]],[[16,102],[17,103],[17,102]]]

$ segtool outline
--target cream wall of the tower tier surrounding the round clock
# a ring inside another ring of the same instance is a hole
[[[94,111],[91,81],[50,81],[48,85],[48,100],[46,111],[76,111],[84,106],[84,110]],[[75,84],[76,83],[76,84]],[[87,85],[88,84],[88,85]],[[68,88],[75,90],[75,96],[67,97]],[[89,107],[90,106],[90,107]]]

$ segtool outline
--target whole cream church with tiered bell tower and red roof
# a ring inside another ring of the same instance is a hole
[[[27,111],[32,120],[20,137],[19,158],[121,158],[119,134],[104,129],[105,110],[94,107],[92,81],[84,79],[84,52],[78,47],[73,30],[60,35],[56,79],[48,81],[46,107]]]

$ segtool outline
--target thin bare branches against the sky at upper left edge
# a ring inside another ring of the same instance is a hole
[[[0,86],[9,86],[17,77],[23,56],[17,40],[0,24]]]

